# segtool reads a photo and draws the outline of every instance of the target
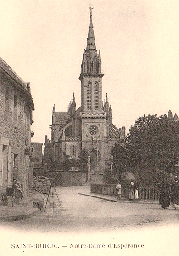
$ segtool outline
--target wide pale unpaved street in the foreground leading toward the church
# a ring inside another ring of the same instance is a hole
[[[144,229],[148,226],[179,223],[179,211],[173,210],[171,205],[163,210],[159,204],[109,202],[79,195],[79,192],[90,191],[90,187],[84,186],[56,187],[56,191],[63,210],[54,194],[54,210],[49,208],[44,213],[22,221],[4,222],[1,227],[49,234]]]

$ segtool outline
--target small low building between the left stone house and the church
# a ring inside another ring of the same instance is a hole
[[[40,175],[40,168],[42,166],[42,145],[40,142],[31,142],[31,157],[30,161],[34,163],[33,165],[33,174],[35,176]]]

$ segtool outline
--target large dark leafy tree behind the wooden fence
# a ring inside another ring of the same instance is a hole
[[[130,171],[140,178],[141,174],[144,178],[150,171],[171,173],[179,163],[178,145],[179,122],[166,115],[139,117],[129,129],[124,143],[115,145],[114,171]],[[150,177],[146,179],[149,181]]]

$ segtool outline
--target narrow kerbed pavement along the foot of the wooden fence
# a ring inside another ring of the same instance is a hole
[[[91,196],[95,198],[99,198],[102,200],[110,201],[110,202],[125,202],[125,203],[145,203],[145,204],[158,204],[158,201],[155,200],[128,200],[127,198],[121,198],[121,200],[117,200],[116,196],[103,195],[103,194],[95,194],[95,193],[78,193],[83,196]]]

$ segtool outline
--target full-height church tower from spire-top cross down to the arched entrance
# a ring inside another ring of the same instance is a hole
[[[91,159],[91,173],[104,173],[106,112],[102,105],[102,77],[100,50],[97,53],[92,22],[92,9],[86,49],[81,65],[81,129],[82,150],[86,148]]]

